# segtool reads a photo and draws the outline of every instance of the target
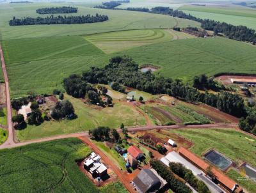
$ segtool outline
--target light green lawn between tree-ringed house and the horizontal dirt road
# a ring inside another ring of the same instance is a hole
[[[90,130],[98,126],[117,128],[121,123],[125,126],[145,125],[145,118],[131,105],[118,104],[97,110],[72,96],[65,95],[74,105],[77,118],[75,120],[45,121],[39,126],[28,125],[24,130],[17,130],[17,139],[25,141],[58,134],[68,134]]]

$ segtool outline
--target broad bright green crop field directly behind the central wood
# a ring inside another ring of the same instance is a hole
[[[15,45],[22,49],[17,52]],[[81,36],[66,36],[4,40],[3,50],[12,98],[28,91],[41,94],[61,89],[64,77],[90,66],[104,66],[116,55],[129,55],[140,65],[159,66],[156,73],[184,81],[202,73],[255,73],[256,64],[256,47],[225,38],[175,40],[104,54]]]

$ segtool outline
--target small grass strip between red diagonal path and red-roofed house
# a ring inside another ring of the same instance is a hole
[[[100,148],[101,151],[103,151],[115,164],[125,170],[125,161],[124,158],[115,151],[114,147],[110,149],[108,146],[106,146],[103,142],[101,141],[94,141],[92,140],[93,143],[97,145],[98,148]]]

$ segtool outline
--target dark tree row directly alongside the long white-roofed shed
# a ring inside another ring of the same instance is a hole
[[[190,169],[186,169],[183,164],[170,162],[169,167],[173,173],[186,180],[198,193],[210,193],[204,181],[198,180],[192,171]]]

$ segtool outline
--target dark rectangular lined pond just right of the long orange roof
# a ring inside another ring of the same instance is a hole
[[[204,157],[212,164],[220,167],[220,169],[222,169],[223,171],[225,171],[232,164],[231,160],[229,160],[216,150],[210,150],[204,155]]]

